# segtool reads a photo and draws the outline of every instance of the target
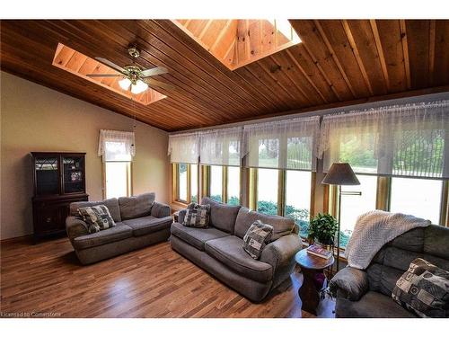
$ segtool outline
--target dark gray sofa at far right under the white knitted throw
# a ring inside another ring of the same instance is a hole
[[[449,228],[415,228],[385,244],[366,270],[339,270],[330,280],[337,317],[417,317],[392,300],[392,289],[409,263],[423,258],[449,270]]]

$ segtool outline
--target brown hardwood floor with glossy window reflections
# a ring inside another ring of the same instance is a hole
[[[295,271],[281,286],[285,291],[253,304],[169,243],[90,266],[77,261],[66,238],[7,243],[1,247],[0,311],[50,317],[313,317],[301,311],[301,282]],[[326,299],[319,316],[332,316],[332,309]]]

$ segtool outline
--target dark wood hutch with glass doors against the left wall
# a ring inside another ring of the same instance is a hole
[[[34,241],[66,233],[69,205],[86,201],[85,153],[31,152]]]

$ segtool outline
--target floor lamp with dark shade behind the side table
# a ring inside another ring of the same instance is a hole
[[[348,163],[334,163],[330,166],[329,172],[321,182],[326,185],[339,186],[339,223],[341,214],[341,196],[342,195],[362,195],[360,191],[341,191],[344,185],[360,185],[356,174],[352,171],[351,165]],[[339,224],[340,227],[340,224]],[[337,233],[337,272],[339,271],[339,231]]]

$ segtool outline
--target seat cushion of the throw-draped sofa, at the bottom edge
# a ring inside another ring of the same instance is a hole
[[[335,312],[338,317],[416,318],[416,315],[394,302],[392,297],[375,291],[368,291],[358,301],[339,298]]]

